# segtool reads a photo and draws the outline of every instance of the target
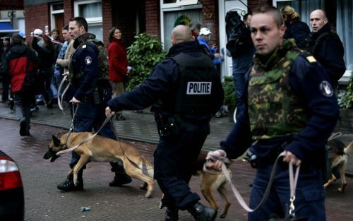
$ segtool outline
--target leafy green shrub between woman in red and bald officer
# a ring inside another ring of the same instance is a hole
[[[162,61],[166,55],[162,42],[156,37],[142,33],[135,36],[136,41],[128,47],[128,63],[133,67],[128,75],[126,91],[136,88],[150,75],[152,68]]]

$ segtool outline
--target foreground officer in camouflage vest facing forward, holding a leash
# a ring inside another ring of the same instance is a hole
[[[246,148],[257,159],[250,207],[263,198],[273,163],[285,150],[275,172],[269,198],[249,220],[284,217],[289,204],[288,162],[301,165],[294,201],[297,217],[325,219],[325,192],[321,162],[339,109],[325,70],[293,40],[282,41],[285,25],[277,8],[261,6],[253,12],[251,38],[257,49],[247,73],[246,89],[237,124],[214,154],[237,158]],[[209,157],[210,158],[210,157]],[[220,160],[208,165],[220,169]]]

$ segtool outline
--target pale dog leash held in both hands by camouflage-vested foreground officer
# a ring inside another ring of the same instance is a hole
[[[215,162],[216,160],[220,160],[222,162],[221,172],[225,175],[225,178],[227,179],[227,181],[229,181],[229,184],[232,187],[232,191],[234,193],[234,196],[237,198],[237,201],[239,202],[241,207],[244,208],[244,210],[248,211],[249,213],[252,213],[252,212],[258,210],[265,203],[265,201],[267,201],[268,195],[270,194],[270,189],[271,189],[272,184],[273,184],[273,180],[275,179],[275,172],[276,172],[276,169],[277,169],[277,162],[280,159],[280,157],[284,157],[284,156],[285,156],[285,151],[283,151],[282,153],[280,153],[280,155],[277,156],[277,158],[275,160],[275,163],[273,165],[273,169],[272,169],[271,174],[270,174],[270,181],[268,181],[268,186],[267,186],[266,191],[265,191],[265,193],[263,195],[263,198],[261,199],[261,202],[256,206],[256,208],[251,209],[245,203],[244,198],[240,195],[239,191],[234,186],[234,184],[232,184],[232,180],[230,179],[230,174],[229,174],[228,169],[227,169],[227,167],[225,165],[225,160],[227,159],[226,156],[222,155],[221,157],[217,157],[211,152],[208,153],[208,157],[210,158],[211,161]],[[205,162],[205,164],[206,163],[207,162]],[[292,163],[290,163],[290,165],[292,165]],[[210,170],[208,170],[205,165],[203,165],[203,168],[204,168],[205,172],[210,173],[210,174],[214,174],[213,172],[210,172]],[[290,171],[289,171],[289,173],[290,173]],[[294,182],[295,183],[294,186],[297,185],[298,175],[299,175],[299,167],[297,168],[296,178],[294,179],[294,181],[295,181]],[[290,177],[289,177],[289,181],[290,181]],[[292,184],[291,184],[291,186],[292,186]],[[291,187],[291,205],[292,205],[293,209],[290,210],[290,211],[292,211],[292,213],[294,213],[295,187],[294,187],[293,194],[294,195],[292,195],[292,187]],[[293,201],[292,201],[292,196],[294,196]]]

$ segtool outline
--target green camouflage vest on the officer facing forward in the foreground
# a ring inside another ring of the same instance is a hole
[[[263,65],[256,57],[249,80],[249,120],[253,140],[291,136],[301,132],[309,114],[289,86],[289,70],[301,54],[285,41]]]

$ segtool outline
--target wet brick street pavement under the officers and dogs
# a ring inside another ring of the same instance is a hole
[[[140,112],[124,112],[126,121],[115,121],[119,137],[135,146],[152,162],[152,153],[158,140],[156,126],[152,114],[147,110]],[[21,137],[18,133],[19,124],[15,121],[14,112],[7,104],[0,104],[0,149],[13,157],[20,167],[25,188],[25,220],[164,220],[164,210],[160,210],[160,196],[157,184],[153,198],[146,199],[145,191],[140,190],[139,180],[133,180],[124,187],[109,187],[108,183],[114,177],[108,163],[91,162],[83,174],[84,191],[65,193],[56,189],[56,185],[63,181],[68,172],[70,154],[59,157],[55,162],[49,162],[42,157],[47,151],[47,145],[52,137],[61,130],[67,130],[71,125],[68,111],[61,112],[57,107],[47,109],[40,106],[39,112],[33,113],[31,136]],[[211,121],[211,134],[205,142],[204,148],[212,150],[219,142],[226,138],[232,121],[230,117],[214,118]],[[347,141],[350,135],[345,135]],[[353,160],[351,160],[353,162]],[[236,160],[231,165],[232,181],[239,192],[249,203],[249,193],[254,170],[247,162]],[[191,179],[191,189],[200,194],[199,177]],[[336,181],[327,190],[326,214],[328,221],[352,221],[353,210],[353,179],[347,177],[345,193],[339,193],[340,186]],[[228,190],[232,205],[229,209],[228,220],[246,220],[246,212],[237,203],[231,190]],[[217,202],[222,210],[224,203],[218,193]],[[201,196],[201,202],[208,205]],[[81,207],[88,207],[90,211],[80,212]],[[193,220],[191,215],[181,212],[179,220]],[[221,220],[217,218],[217,220]]]

